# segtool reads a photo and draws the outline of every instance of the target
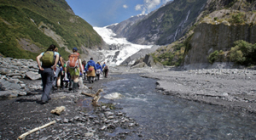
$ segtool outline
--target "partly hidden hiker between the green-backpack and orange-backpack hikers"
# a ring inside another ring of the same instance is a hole
[[[58,48],[55,48],[55,52],[58,52]],[[54,88],[57,85],[57,90],[59,91],[61,89],[61,74],[62,74],[62,67],[64,66],[63,58],[61,57],[61,54],[59,54],[59,61],[58,64],[55,67],[55,76],[54,81],[52,83],[52,87]]]

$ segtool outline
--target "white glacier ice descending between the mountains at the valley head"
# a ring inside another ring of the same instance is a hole
[[[117,38],[111,29],[105,27],[93,27],[102,36],[102,39],[109,45],[110,50],[101,50],[104,54],[102,62],[108,65],[119,65],[132,54],[143,48],[152,48],[152,45],[139,45],[128,42],[125,38]]]

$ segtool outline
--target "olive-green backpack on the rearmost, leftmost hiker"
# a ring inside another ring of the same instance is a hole
[[[55,52],[54,51],[46,51],[43,54],[41,59],[42,65],[44,66],[52,66],[55,64]]]

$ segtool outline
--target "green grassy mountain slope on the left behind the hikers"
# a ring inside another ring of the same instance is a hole
[[[73,47],[82,57],[104,47],[102,37],[65,0],[0,0],[0,9],[0,53],[6,57],[35,59],[55,44],[67,60]]]

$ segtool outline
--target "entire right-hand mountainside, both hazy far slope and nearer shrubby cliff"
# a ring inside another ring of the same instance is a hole
[[[254,0],[174,0],[123,31],[125,25],[111,28],[130,42],[162,45],[151,55],[165,65],[249,66],[256,64],[255,5]]]

